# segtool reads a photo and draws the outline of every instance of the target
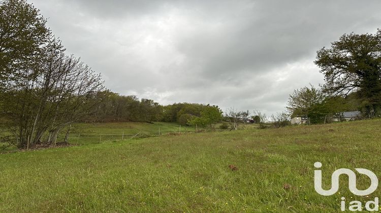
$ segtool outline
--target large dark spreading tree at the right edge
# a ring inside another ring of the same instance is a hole
[[[317,51],[315,64],[325,76],[324,92],[356,92],[368,117],[381,107],[381,29],[375,34],[344,34],[330,49]]]

